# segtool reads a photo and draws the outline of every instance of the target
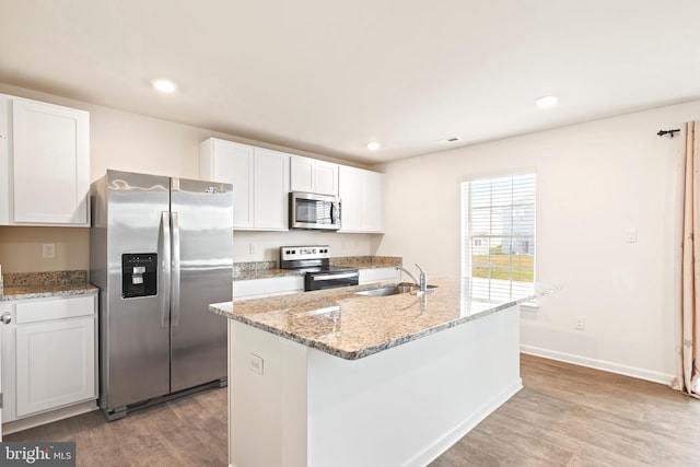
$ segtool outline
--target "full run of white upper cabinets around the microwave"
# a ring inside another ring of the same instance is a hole
[[[384,174],[217,138],[199,149],[199,177],[233,185],[234,230],[289,230],[289,192],[340,196],[339,232],[382,233]]]

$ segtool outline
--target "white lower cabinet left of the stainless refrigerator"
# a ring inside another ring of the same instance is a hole
[[[96,399],[96,295],[9,303],[12,323],[2,328],[2,421]]]

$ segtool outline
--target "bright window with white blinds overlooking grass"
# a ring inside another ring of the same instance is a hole
[[[462,183],[462,276],[470,296],[510,300],[535,289],[535,174]]]

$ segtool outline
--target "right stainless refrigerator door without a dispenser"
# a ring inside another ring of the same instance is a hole
[[[226,318],[209,304],[232,299],[233,191],[182,178],[171,189],[171,390],[177,392],[226,377]]]

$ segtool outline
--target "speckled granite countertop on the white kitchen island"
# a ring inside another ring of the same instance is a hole
[[[365,296],[357,292],[396,281],[217,303],[210,310],[346,360],[386,349],[497,313],[536,295],[508,302],[470,299],[466,279],[429,280],[433,293]]]

